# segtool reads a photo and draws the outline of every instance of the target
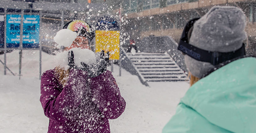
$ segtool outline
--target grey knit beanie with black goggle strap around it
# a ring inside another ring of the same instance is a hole
[[[231,52],[242,47],[247,38],[246,18],[241,9],[215,6],[193,25],[189,44],[207,51]],[[214,66],[185,55],[185,64],[191,74],[202,78]]]

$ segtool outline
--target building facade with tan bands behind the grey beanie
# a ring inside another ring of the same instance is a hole
[[[247,52],[256,55],[256,1],[255,0],[127,0],[123,13],[128,24],[125,31],[139,40],[150,35],[171,36],[179,42],[185,24],[201,17],[216,5],[241,8],[247,17]]]

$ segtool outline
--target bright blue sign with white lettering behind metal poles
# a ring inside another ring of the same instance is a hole
[[[6,43],[8,48],[19,47],[21,15],[6,16]],[[39,47],[39,15],[24,15],[23,48]]]

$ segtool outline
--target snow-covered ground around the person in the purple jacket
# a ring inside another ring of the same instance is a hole
[[[42,53],[42,72],[52,69],[53,56]],[[3,55],[0,55],[3,61]],[[0,64],[0,133],[46,133],[49,119],[39,102],[39,52],[23,51],[22,77],[3,75]],[[19,73],[19,52],[7,54],[7,66]],[[160,133],[175,113],[188,82],[150,82],[145,87],[137,76],[114,67],[114,77],[126,101],[124,113],[110,121],[112,133]]]

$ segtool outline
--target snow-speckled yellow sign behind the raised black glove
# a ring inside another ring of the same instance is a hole
[[[100,52],[104,50],[109,51],[110,60],[119,60],[120,54],[120,31],[106,31],[106,30],[96,30],[95,31],[95,52]]]

